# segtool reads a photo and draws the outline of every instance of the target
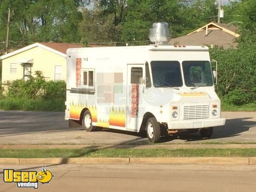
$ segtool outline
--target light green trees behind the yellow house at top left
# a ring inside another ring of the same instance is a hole
[[[17,41],[79,42],[78,30],[82,20],[80,10],[88,3],[90,0],[1,0],[0,41],[6,41],[7,14],[10,8],[11,47],[26,45]]]

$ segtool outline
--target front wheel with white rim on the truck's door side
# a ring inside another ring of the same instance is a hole
[[[148,131],[149,126],[152,126],[151,130],[153,132],[151,132],[151,134],[149,134],[150,131]],[[157,122],[156,118],[151,117],[148,119],[147,125],[146,125],[146,132],[147,132],[148,140],[151,143],[157,143],[160,140],[161,130],[160,130],[160,125]]]

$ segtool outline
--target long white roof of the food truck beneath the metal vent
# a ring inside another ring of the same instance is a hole
[[[185,46],[185,45],[146,45],[146,46],[122,46],[122,47],[83,47],[83,48],[71,48],[69,50],[81,50],[81,49],[147,49],[149,51],[209,51],[207,46]]]

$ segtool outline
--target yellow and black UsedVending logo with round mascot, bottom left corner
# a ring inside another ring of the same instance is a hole
[[[52,172],[42,168],[36,171],[15,171],[14,169],[3,169],[3,181],[5,183],[17,183],[17,187],[33,187],[38,189],[38,182],[42,185],[49,184],[54,175]]]

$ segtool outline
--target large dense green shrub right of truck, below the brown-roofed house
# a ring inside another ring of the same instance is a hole
[[[238,49],[210,49],[211,58],[218,61],[219,96],[234,105],[256,100],[256,45]],[[215,65],[213,64],[213,70]]]

